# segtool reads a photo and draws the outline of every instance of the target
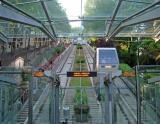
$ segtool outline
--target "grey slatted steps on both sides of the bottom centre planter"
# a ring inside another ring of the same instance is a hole
[[[66,89],[67,90],[67,89]],[[74,96],[74,89],[69,89],[66,91],[66,95],[63,100],[63,106],[69,107],[70,108],[70,115],[69,115],[69,120],[68,124],[82,124],[80,122],[75,122],[74,119],[74,105],[73,105],[73,96]],[[83,122],[83,124],[103,124],[103,115],[102,115],[102,110],[101,106],[97,103],[96,96],[95,96],[95,91],[94,89],[86,89],[87,94],[88,94],[88,104],[90,108],[90,116],[91,118],[88,120],[88,122]],[[62,107],[63,107],[62,106]],[[63,108],[60,111],[60,121],[64,121],[63,117]]]

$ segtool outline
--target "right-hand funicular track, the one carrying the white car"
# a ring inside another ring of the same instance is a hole
[[[85,47],[85,54],[89,58],[88,63],[93,63],[93,58],[95,57],[95,51],[88,45]],[[91,65],[91,64],[90,64]],[[137,117],[137,106],[136,106],[136,96],[135,87],[127,79],[123,77],[117,77],[114,79],[114,89],[115,93],[118,93],[119,99],[117,103],[117,123],[131,123],[135,124]]]

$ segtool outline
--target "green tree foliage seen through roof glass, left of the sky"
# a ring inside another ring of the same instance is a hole
[[[14,4],[18,8],[22,9],[24,12],[32,15],[33,17],[39,19],[40,21],[47,20],[47,17],[45,15],[45,12],[43,10],[43,7],[39,2],[35,3],[28,3],[28,4],[17,4],[17,3],[24,3],[24,2],[31,2],[30,0],[9,0],[10,3]],[[51,20],[54,20],[55,18],[62,18],[68,19],[67,14],[65,10],[62,8],[62,6],[58,3],[57,0],[52,1],[44,1],[46,3],[46,8],[49,12],[49,16],[51,17]],[[46,23],[48,24],[48,23]],[[55,30],[57,32],[70,32],[71,27],[69,25],[69,22],[67,23],[57,23],[53,25]]]

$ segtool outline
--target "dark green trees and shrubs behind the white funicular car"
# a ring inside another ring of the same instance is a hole
[[[137,42],[119,42],[117,45],[121,62],[131,66],[136,65],[137,52],[139,49],[139,63],[159,64],[160,63],[160,43],[151,38],[145,38]]]

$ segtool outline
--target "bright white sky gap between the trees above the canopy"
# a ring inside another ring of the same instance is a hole
[[[82,0],[82,14],[84,12],[84,4],[86,0]],[[58,0],[61,6],[66,10],[69,19],[78,19],[81,16],[81,0]],[[81,22],[71,22],[72,27],[80,27]]]

